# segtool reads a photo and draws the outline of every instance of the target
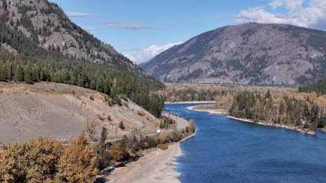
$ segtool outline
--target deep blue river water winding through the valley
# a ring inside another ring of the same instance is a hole
[[[190,105],[165,105],[166,111],[194,119],[198,129],[181,143],[180,182],[326,182],[325,133],[244,123],[187,110]]]

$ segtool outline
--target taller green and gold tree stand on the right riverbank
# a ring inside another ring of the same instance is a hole
[[[326,125],[326,97],[316,93],[245,91],[235,94],[229,112],[231,116],[254,122],[296,125],[314,131]]]

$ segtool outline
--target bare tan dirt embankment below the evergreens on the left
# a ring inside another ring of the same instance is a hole
[[[156,132],[159,119],[148,112],[140,116],[137,110],[128,107],[137,106],[132,101],[110,107],[106,98],[91,89],[54,82],[34,85],[0,82],[0,142],[26,141],[39,136],[67,141],[83,132],[86,119],[98,121],[99,132],[102,126],[106,127],[109,139],[122,137],[133,128],[141,128],[148,134]],[[125,130],[118,128],[121,121]]]

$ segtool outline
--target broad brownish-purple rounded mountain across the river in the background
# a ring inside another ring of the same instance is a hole
[[[297,85],[326,76],[326,32],[286,24],[208,31],[146,63],[164,82]]]

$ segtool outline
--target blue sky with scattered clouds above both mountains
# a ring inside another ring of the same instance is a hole
[[[254,21],[326,28],[326,0],[52,2],[76,24],[136,63],[220,26]]]

